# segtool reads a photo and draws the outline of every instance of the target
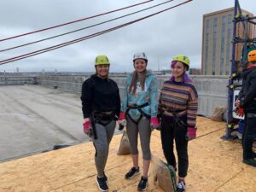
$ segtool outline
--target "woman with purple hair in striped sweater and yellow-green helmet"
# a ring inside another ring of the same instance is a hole
[[[185,55],[176,55],[171,67],[172,77],[163,84],[160,91],[160,133],[166,160],[177,170],[173,153],[175,140],[178,165],[177,191],[183,192],[189,167],[188,141],[196,137],[198,95],[186,73],[189,70],[189,58]]]

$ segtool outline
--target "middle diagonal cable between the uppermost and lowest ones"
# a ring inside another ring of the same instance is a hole
[[[30,44],[37,44],[37,43],[40,43],[40,42],[43,42],[43,41],[46,41],[46,40],[49,40],[49,39],[52,39],[52,38],[59,38],[59,37],[61,37],[61,36],[64,36],[64,35],[67,35],[67,34],[71,34],[71,33],[73,33],[73,32],[79,32],[79,31],[82,31],[82,30],[85,30],[85,29],[89,29],[89,28],[94,27],[94,26],[100,26],[100,25],[105,24],[105,23],[108,23],[108,22],[110,22],[110,21],[119,20],[119,19],[124,18],[124,17],[126,17],[126,16],[134,15],[134,14],[143,12],[143,11],[145,11],[145,10],[158,7],[158,6],[160,6],[160,5],[163,5],[163,4],[166,4],[166,3],[170,3],[170,2],[172,2],[172,1],[174,1],[174,0],[169,0],[169,1],[166,1],[166,2],[164,2],[164,3],[159,3],[159,4],[156,4],[156,5],[154,5],[154,6],[148,7],[148,8],[146,8],[146,9],[140,9],[140,10],[138,10],[138,11],[132,12],[131,14],[122,15],[122,16],[113,18],[113,19],[111,19],[111,20],[105,20],[105,21],[100,22],[100,23],[97,23],[97,24],[95,24],[95,25],[86,26],[86,27],[83,27],[83,28],[80,28],[80,29],[77,29],[77,30],[74,30],[74,31],[71,31],[71,32],[65,32],[65,33],[62,33],[62,34],[59,34],[59,35],[55,35],[55,36],[53,36],[53,37],[43,38],[43,39],[40,39],[40,40],[37,40],[37,41],[33,41],[33,42],[31,42],[31,43],[28,43],[28,44],[20,44],[20,45],[17,45],[17,46],[15,46],[15,47],[10,47],[10,48],[8,48],[8,49],[1,49],[0,52],[4,52],[4,51],[7,51],[7,50],[11,50],[11,49],[17,49],[17,48],[24,47],[24,46],[27,46],[27,45],[30,45]]]

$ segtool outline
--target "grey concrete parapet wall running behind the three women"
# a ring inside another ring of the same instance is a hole
[[[50,88],[57,88],[72,92],[81,92],[84,79],[89,78],[78,75],[40,75],[38,82]],[[169,76],[157,76],[159,91]],[[191,76],[199,95],[198,114],[206,117],[212,116],[212,111],[218,106],[227,106],[228,76]],[[119,84],[120,96],[124,95],[125,77],[112,77]]]

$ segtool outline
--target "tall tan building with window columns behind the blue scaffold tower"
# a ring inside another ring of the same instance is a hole
[[[241,10],[242,15],[253,14]],[[203,15],[201,74],[230,75],[232,59],[234,8],[223,9]],[[253,26],[248,26],[248,35],[253,37]],[[241,23],[236,27],[236,36],[243,37]],[[236,61],[240,60],[242,44],[236,44]]]

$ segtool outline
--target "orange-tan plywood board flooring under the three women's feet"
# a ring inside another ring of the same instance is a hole
[[[189,142],[187,191],[255,191],[255,168],[241,163],[241,143],[220,139],[224,123],[199,117],[197,125],[198,137]],[[109,191],[137,191],[139,177],[128,181],[124,178],[131,167],[131,156],[117,155],[120,138],[114,136],[110,144],[106,167]],[[159,131],[153,132],[151,150],[164,160]],[[94,154],[89,142],[3,162],[0,191],[98,191]],[[147,191],[162,191],[154,185],[152,174]]]

